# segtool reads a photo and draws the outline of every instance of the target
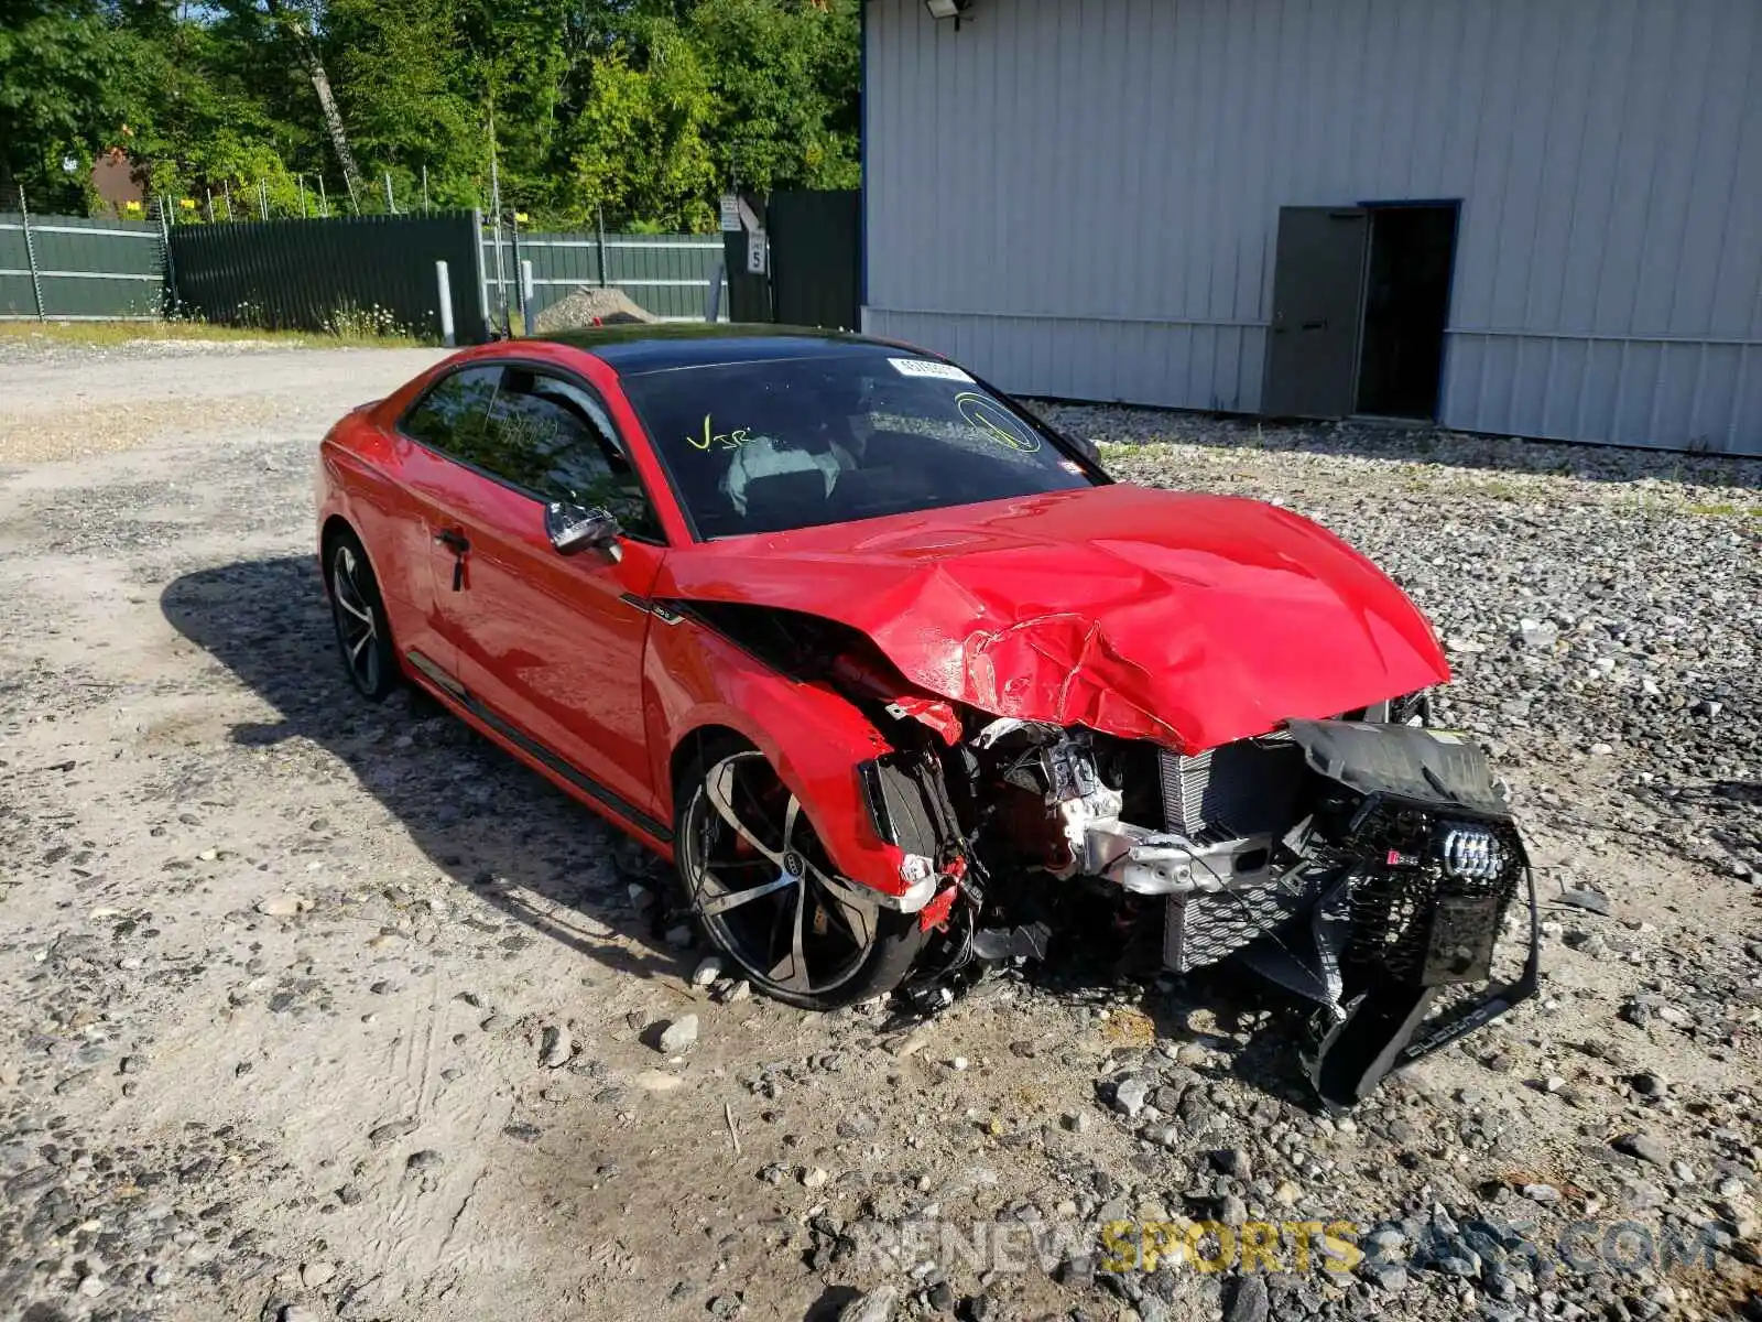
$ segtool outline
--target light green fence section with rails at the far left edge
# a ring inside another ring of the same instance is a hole
[[[166,312],[152,220],[0,212],[0,319],[141,319]]]

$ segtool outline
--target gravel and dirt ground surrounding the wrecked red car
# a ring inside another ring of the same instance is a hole
[[[1512,781],[1545,996],[1327,1118],[1226,975],[694,985],[640,851],[359,705],[312,453],[425,361],[0,363],[0,1315],[1762,1317],[1762,465],[1054,411],[1385,564]]]

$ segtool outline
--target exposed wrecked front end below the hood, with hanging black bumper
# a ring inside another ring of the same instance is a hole
[[[1173,973],[1232,959],[1313,1001],[1309,1079],[1351,1107],[1538,984],[1522,839],[1480,747],[1424,712],[1417,694],[1193,754],[1018,719],[957,735],[944,714],[858,770],[876,830],[936,878],[920,985],[1043,957],[1048,894],[1112,902],[1159,917]]]

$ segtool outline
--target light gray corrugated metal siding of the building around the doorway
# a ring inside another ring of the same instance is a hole
[[[865,326],[1255,411],[1279,206],[1461,199],[1441,420],[1762,453],[1757,0],[869,14]]]

